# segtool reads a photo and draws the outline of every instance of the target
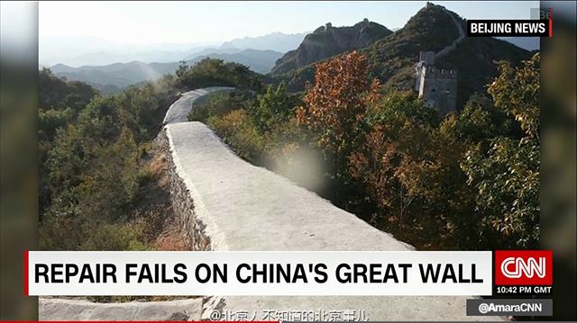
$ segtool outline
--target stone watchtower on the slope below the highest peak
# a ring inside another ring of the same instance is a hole
[[[457,103],[457,72],[435,67],[435,52],[421,51],[415,67],[415,90],[429,108],[447,113],[455,111]]]

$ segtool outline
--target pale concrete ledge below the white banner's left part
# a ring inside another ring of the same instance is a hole
[[[45,299],[38,301],[40,320],[198,320],[202,300],[131,301],[95,303],[92,301]]]

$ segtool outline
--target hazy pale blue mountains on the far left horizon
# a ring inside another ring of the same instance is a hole
[[[241,63],[255,72],[268,73],[278,58],[289,49],[295,49],[305,38],[306,32],[285,34],[273,32],[259,37],[245,37],[226,41],[220,46],[194,46],[186,44],[159,44],[151,48],[142,45],[119,45],[101,39],[52,39],[41,40],[41,62],[55,60],[61,52],[82,52],[62,58],[69,62],[50,67],[57,76],[93,85],[105,94],[119,92],[123,87],[154,80],[172,73],[180,60],[194,64],[202,58],[220,58]],[[60,49],[57,44],[65,44]],[[162,46],[165,45],[165,46]],[[86,64],[87,62],[94,62]]]

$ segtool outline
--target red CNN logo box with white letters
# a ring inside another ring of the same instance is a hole
[[[551,250],[495,251],[496,285],[553,285]]]

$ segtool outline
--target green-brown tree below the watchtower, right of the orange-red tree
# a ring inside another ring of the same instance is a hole
[[[453,243],[471,205],[456,119],[440,119],[416,94],[387,94],[367,113],[369,131],[349,160],[350,174],[376,204],[373,224],[419,247]]]

